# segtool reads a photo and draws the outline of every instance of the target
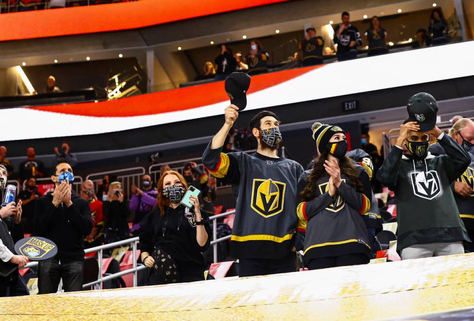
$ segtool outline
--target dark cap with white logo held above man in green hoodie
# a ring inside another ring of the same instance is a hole
[[[417,122],[420,131],[428,131],[436,125],[438,113],[438,102],[435,97],[428,93],[418,93],[408,99],[406,105],[408,111],[407,122]]]

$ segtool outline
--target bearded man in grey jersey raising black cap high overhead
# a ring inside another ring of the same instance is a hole
[[[231,104],[225,109],[224,125],[204,151],[202,160],[209,173],[238,186],[231,252],[240,259],[239,276],[293,272],[302,248],[304,226],[296,215],[296,183],[303,167],[294,160],[280,158],[280,120],[270,111],[261,111],[250,122],[257,151],[222,153],[230,128],[247,105],[245,94],[250,77],[234,72],[225,80]]]

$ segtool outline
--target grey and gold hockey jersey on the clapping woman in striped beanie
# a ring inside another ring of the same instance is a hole
[[[363,215],[370,209],[370,180],[365,169],[356,164],[364,193],[356,191],[349,177],[341,174],[342,183],[334,197],[328,193],[329,175],[316,182],[313,197],[298,204],[300,220],[307,221],[304,259],[365,253],[372,257]],[[312,170],[306,170],[298,181],[298,194],[305,188]]]

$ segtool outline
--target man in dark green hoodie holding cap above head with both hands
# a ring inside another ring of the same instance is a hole
[[[470,239],[450,184],[464,173],[470,157],[436,126],[433,96],[410,97],[407,110],[397,142],[377,172],[377,179],[398,199],[397,250],[403,259],[462,254],[463,240]],[[430,135],[438,138],[446,155],[431,155]]]

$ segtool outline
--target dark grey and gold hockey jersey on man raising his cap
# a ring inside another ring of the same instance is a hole
[[[296,215],[296,185],[303,167],[294,160],[244,152],[203,154],[209,173],[238,186],[231,253],[237,258],[283,258],[303,237]]]

